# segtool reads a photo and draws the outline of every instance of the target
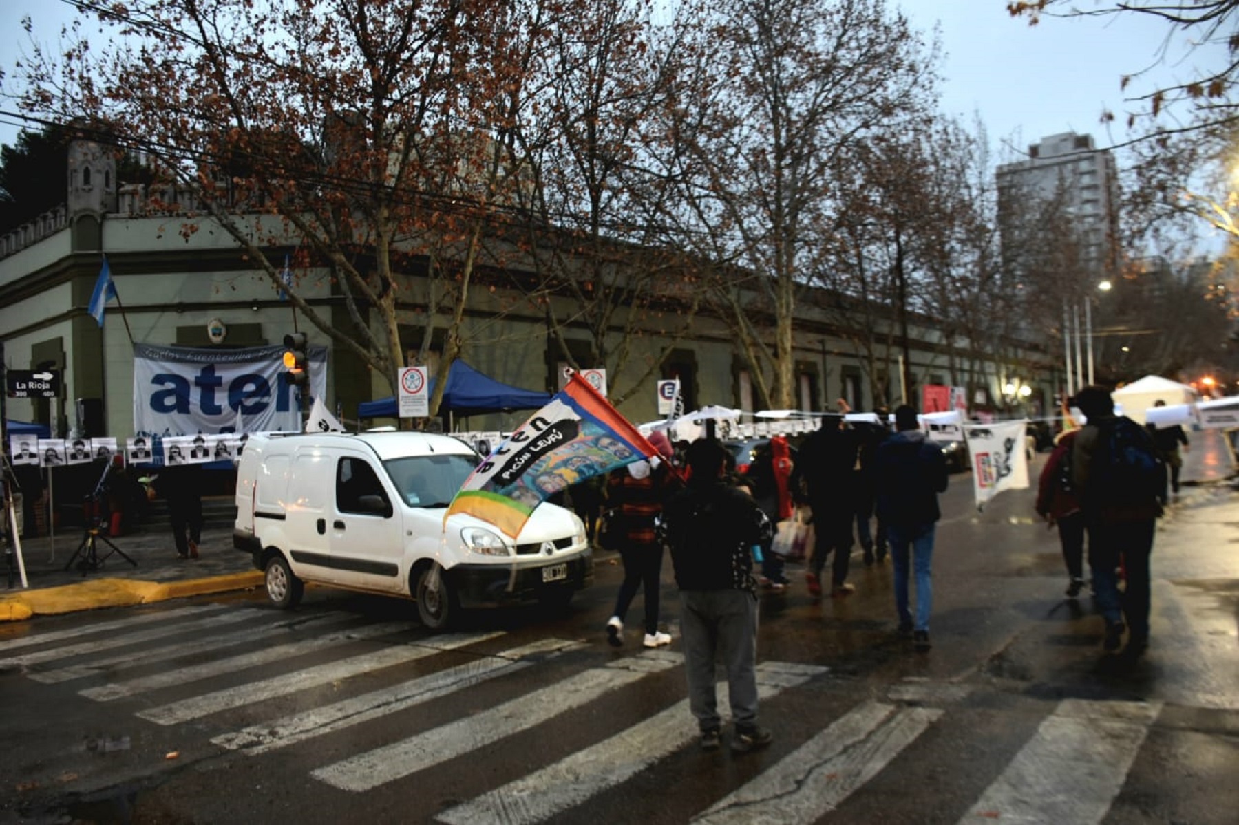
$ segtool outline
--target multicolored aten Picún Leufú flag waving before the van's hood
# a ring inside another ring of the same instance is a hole
[[[546,406],[465,479],[444,518],[468,513],[515,538],[546,498],[657,453],[636,426],[572,373]]]

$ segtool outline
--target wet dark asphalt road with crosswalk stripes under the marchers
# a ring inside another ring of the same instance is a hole
[[[1158,525],[1137,663],[1103,655],[1088,600],[1063,598],[1032,491],[978,513],[955,474],[928,654],[893,634],[890,566],[859,552],[850,597],[814,601],[798,566],[763,597],[766,751],[683,738],[669,561],[675,642],[650,654],[641,597],[624,647],[605,642],[621,571],[602,554],[567,614],[479,613],[446,642],[411,605],[327,590],[292,613],[237,592],[0,627],[0,821],[684,823],[721,803],[735,821],[1004,821],[1025,804],[1028,821],[1233,823],[1239,493],[1214,435],[1184,474],[1204,483]],[[1132,717],[1094,723],[1111,711]],[[757,801],[729,801],[740,788]]]

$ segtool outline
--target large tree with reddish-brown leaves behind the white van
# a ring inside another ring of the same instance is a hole
[[[209,219],[273,289],[284,285],[265,250],[299,245],[330,271],[353,323],[323,316],[297,284],[291,302],[387,382],[441,330],[434,414],[470,291],[512,254],[487,243],[503,239],[498,217],[527,185],[506,151],[524,114],[512,100],[553,82],[534,76],[530,55],[590,4],[77,5],[124,36],[97,50],[76,25],[63,55],[36,50],[25,108],[124,135],[192,191],[182,232]],[[410,318],[424,325],[411,346],[399,332]]]

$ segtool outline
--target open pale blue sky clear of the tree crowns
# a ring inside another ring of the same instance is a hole
[[[944,109],[968,121],[974,111],[980,113],[995,146],[1017,135],[1014,144],[1021,150],[1062,131],[1093,134],[1099,145],[1121,140],[1121,115],[1113,135],[1106,136],[1100,113],[1104,108],[1116,113],[1130,108],[1123,102],[1120,77],[1152,63],[1167,31],[1163,22],[1147,15],[1046,19],[1028,26],[1026,19],[1006,12],[1006,0],[888,1],[902,6],[927,32],[940,21],[947,52]],[[1093,2],[1079,0],[1078,5],[1089,7]],[[58,0],[0,0],[0,67],[6,73],[26,42],[19,21],[27,14],[35,37],[55,47],[73,9]],[[1183,61],[1180,52],[1177,64],[1158,66],[1152,77],[1161,84],[1187,77],[1193,63],[1204,57]],[[1151,87],[1137,82],[1136,88]],[[12,105],[2,103],[0,109],[11,110]],[[12,144],[16,134],[12,118],[0,116],[0,142]],[[1001,159],[1002,151],[997,155]]]

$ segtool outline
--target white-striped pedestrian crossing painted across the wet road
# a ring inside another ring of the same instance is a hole
[[[571,818],[669,761],[703,758],[674,673],[681,665],[675,648],[616,654],[596,640],[548,635],[518,643],[504,631],[427,635],[409,622],[336,612],[290,617],[235,605],[136,613],[85,631],[0,640],[0,673],[72,691],[109,714],[180,726],[203,748],[255,764],[291,751],[305,762],[306,793],[413,787],[461,757],[520,766],[514,778],[501,775],[470,798],[449,799],[432,813],[444,825]],[[761,661],[763,712],[781,696],[819,691],[830,678],[821,665]],[[676,692],[667,695],[669,689]],[[929,747],[927,732],[950,725],[973,690],[958,681],[888,685],[881,696],[802,725],[803,741],[792,747],[740,757],[760,769],[722,793],[706,783],[715,790],[693,800],[681,821],[823,821],[902,756]],[[473,691],[494,699],[483,707],[452,704]],[[497,756],[558,720],[650,692],[659,696],[652,712],[623,718],[570,752],[556,751],[550,737],[545,756]],[[725,683],[719,694],[726,709]],[[1161,710],[1157,702],[1058,702],[992,780],[960,800],[959,823],[1101,823]],[[325,740],[330,747],[320,746]]]

